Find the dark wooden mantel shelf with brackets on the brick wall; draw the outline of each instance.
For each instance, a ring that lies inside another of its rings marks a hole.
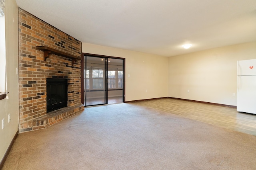
[[[46,46],[36,46],[36,49],[44,51],[44,61],[46,61],[46,59],[50,56],[50,54],[60,55],[62,57],[72,59],[72,65],[74,63],[76,63],[77,60],[81,60],[81,57],[78,57],[75,55],[70,55],[68,53],[58,51],[56,49],[52,49],[52,48],[46,47]]]

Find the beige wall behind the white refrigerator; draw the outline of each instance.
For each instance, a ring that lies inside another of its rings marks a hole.
[[[236,61],[247,59],[256,42],[169,57],[168,96],[236,106]]]

